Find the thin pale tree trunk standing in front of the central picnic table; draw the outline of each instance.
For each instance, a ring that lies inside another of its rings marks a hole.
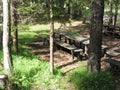
[[[53,32],[54,32],[53,0],[50,0],[50,73],[52,74],[54,73]]]

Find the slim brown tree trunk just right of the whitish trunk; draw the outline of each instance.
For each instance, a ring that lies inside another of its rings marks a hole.
[[[18,53],[18,22],[17,22],[17,1],[11,0],[11,24],[12,24],[12,40],[13,40],[13,49],[14,52]]]

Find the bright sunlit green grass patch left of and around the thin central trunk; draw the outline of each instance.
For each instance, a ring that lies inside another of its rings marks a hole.
[[[10,77],[12,90],[48,90],[63,88],[60,80],[62,74],[55,69],[56,75],[49,73],[49,63],[39,60],[37,57],[13,56],[14,72]],[[63,83],[63,81],[61,80]],[[62,90],[62,89],[61,89]]]

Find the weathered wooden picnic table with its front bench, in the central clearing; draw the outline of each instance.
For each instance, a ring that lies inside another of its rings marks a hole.
[[[63,32],[63,31],[55,32],[54,36],[55,36],[54,38],[55,38],[56,46],[60,46],[60,47],[70,50],[72,59],[74,59],[74,53],[79,53],[78,56],[81,59],[82,55],[80,55],[80,53],[83,54],[83,48],[79,47],[79,45],[77,46],[76,42],[78,42],[78,41],[82,42],[83,40],[85,40],[87,38],[71,35],[71,34],[69,34],[67,32]],[[57,37],[57,39],[56,39],[56,37]]]

